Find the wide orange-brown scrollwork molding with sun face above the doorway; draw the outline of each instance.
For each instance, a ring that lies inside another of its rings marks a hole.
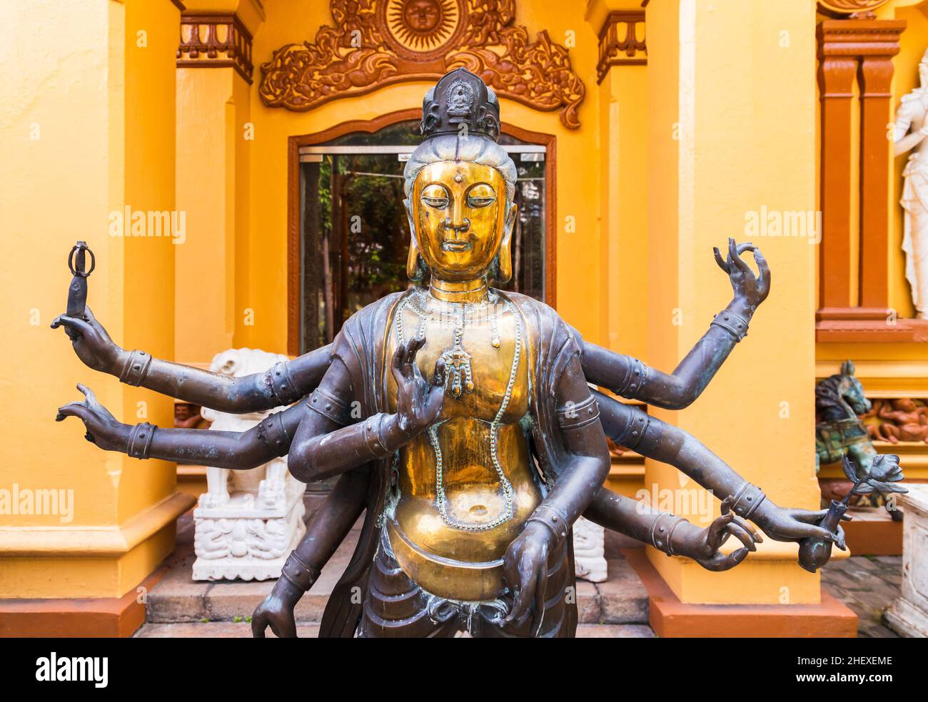
[[[568,129],[586,86],[568,50],[515,24],[515,0],[330,0],[335,26],[315,43],[288,44],[261,65],[258,93],[269,108],[303,112],[392,83],[429,81],[463,66],[497,95],[561,110]]]

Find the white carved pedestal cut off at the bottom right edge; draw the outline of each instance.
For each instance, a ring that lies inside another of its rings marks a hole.
[[[928,638],[928,483],[905,483],[896,495],[905,512],[902,596],[886,610],[886,623],[903,636]]]

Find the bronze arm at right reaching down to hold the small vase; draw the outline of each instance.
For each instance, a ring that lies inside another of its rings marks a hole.
[[[810,512],[774,504],[764,491],[741,478],[688,432],[599,391],[594,393],[602,428],[615,443],[676,467],[720,499],[730,497],[731,511],[753,521],[774,541],[793,542],[814,536],[844,549],[844,530],[839,527],[834,534],[818,526],[827,510]]]

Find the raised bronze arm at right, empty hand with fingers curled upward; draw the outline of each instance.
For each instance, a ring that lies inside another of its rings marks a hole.
[[[755,276],[748,264],[741,260],[740,254],[744,251],[754,253],[759,275]],[[715,249],[715,262],[728,274],[734,298],[728,307],[715,315],[708,331],[672,375],[642,364],[631,356],[584,342],[581,348],[586,379],[601,388],[611,389],[620,397],[665,409],[683,409],[696,400],[735,344],[747,334],[757,305],[767,299],[770,291],[767,261],[760,249],[752,244],[736,245],[734,239],[728,239],[728,261],[723,261],[718,249]]]

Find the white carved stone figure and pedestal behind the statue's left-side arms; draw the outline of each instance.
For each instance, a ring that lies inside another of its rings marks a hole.
[[[264,373],[287,357],[251,349],[230,349],[216,354],[210,370],[241,377]],[[227,415],[204,407],[201,414],[216,431],[247,431],[265,416]],[[303,491],[293,478],[286,458],[275,458],[252,470],[207,468],[208,491],[193,511],[195,581],[264,581],[280,576],[290,551],[303,538]]]

